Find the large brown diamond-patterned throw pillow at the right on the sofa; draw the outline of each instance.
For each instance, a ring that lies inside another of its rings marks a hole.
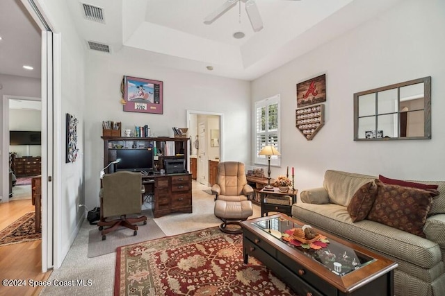
[[[375,184],[378,186],[377,195],[367,219],[426,237],[423,225],[430,211],[434,193],[384,184],[380,180],[375,180]]]

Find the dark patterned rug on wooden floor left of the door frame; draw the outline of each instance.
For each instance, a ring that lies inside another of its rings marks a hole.
[[[0,231],[0,246],[35,241],[40,238],[42,234],[35,233],[35,212],[31,211]]]

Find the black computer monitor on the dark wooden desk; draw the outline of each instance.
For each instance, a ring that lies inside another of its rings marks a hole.
[[[118,149],[116,159],[120,162],[115,164],[115,171],[153,171],[152,149]]]

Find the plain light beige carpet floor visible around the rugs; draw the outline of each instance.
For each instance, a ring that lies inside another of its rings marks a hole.
[[[156,223],[166,235],[181,234],[190,232],[186,229],[204,229],[212,224],[220,224],[213,216],[213,196],[202,190],[209,189],[193,181],[193,214],[170,214],[165,217],[156,218]],[[200,213],[199,211],[202,211]],[[200,214],[205,218],[200,218]],[[259,206],[254,205],[254,217],[261,216]],[[181,217],[181,218],[179,218]],[[171,225],[169,226],[169,218]],[[159,221],[159,222],[158,222]],[[174,223],[172,221],[175,221]],[[204,225],[200,225],[200,221]],[[184,227],[186,226],[187,227]],[[113,284],[115,275],[116,254],[109,253],[102,256],[88,258],[88,236],[92,229],[97,229],[96,225],[90,225],[87,220],[83,222],[79,234],[70,247],[63,264],[59,269],[54,270],[49,277],[49,281],[58,279],[59,281],[72,281],[72,279],[91,279],[91,286],[54,286],[44,287],[40,296],[65,296],[65,295],[113,295]]]

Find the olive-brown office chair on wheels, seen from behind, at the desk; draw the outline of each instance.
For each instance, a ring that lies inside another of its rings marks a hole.
[[[147,224],[146,216],[127,217],[130,214],[140,214],[144,192],[141,173],[118,171],[104,175],[100,191],[100,220],[97,223],[99,230],[102,230],[102,240],[106,239],[106,234],[120,226],[133,229],[133,235],[136,236],[136,223]]]

